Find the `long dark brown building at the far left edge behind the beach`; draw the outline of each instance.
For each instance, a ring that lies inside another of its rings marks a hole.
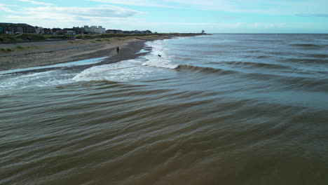
[[[35,28],[25,23],[6,23],[0,22],[0,34],[15,34],[15,33],[32,33],[34,34]]]

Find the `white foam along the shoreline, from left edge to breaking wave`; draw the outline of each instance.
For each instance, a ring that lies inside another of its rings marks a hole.
[[[165,48],[165,41],[151,41],[147,42],[146,45],[151,46],[153,50],[143,57],[114,64],[90,67],[79,73],[72,73],[73,71],[66,70],[54,70],[31,74],[0,75],[0,93],[4,93],[6,90],[62,85],[74,83],[76,81],[136,81],[142,78],[153,78],[153,76],[158,76],[158,74],[166,74],[168,69],[175,69],[178,67],[177,64],[172,62],[172,57],[168,55],[168,50],[170,49]],[[158,57],[158,54],[162,57]],[[101,60],[102,58],[83,60],[67,63],[65,65],[86,64],[88,62],[94,63],[100,62]]]

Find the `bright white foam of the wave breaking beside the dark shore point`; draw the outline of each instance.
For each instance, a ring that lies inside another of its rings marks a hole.
[[[157,72],[165,69],[175,69],[179,65],[172,62],[172,57],[168,55],[170,48],[165,47],[165,41],[146,42],[152,51],[143,57],[135,60],[125,60],[114,64],[104,64],[91,67],[74,76],[74,81],[135,81],[140,78],[147,78],[156,75]],[[158,54],[161,57],[158,57]]]

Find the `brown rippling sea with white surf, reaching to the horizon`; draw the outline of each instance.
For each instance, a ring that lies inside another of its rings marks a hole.
[[[328,184],[328,34],[140,53],[1,71],[0,184]]]

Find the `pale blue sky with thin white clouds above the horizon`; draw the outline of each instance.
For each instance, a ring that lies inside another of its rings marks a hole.
[[[0,22],[207,33],[327,33],[328,0],[0,0]]]

